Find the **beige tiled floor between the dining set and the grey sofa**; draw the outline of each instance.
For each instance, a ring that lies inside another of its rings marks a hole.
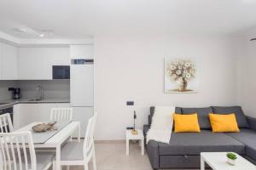
[[[97,170],[152,170],[147,154],[141,155],[138,144],[130,144],[130,156],[125,154],[125,143],[96,144],[96,164]],[[71,167],[70,169],[83,170],[84,168]],[[92,169],[90,163],[89,170]]]

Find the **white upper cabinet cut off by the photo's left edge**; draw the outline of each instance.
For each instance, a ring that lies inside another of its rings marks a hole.
[[[18,79],[18,48],[0,43],[0,79]]]

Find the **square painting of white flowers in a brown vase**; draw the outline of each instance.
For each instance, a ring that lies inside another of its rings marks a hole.
[[[165,93],[198,93],[198,72],[195,59],[165,59]]]

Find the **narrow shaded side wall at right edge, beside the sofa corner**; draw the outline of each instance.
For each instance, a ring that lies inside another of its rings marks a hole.
[[[256,41],[248,38],[236,40],[237,49],[237,103],[243,107],[247,116],[256,117]]]

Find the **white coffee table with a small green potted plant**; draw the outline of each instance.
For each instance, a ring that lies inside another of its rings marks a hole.
[[[256,170],[256,166],[245,158],[236,154],[236,165],[230,165],[227,162],[227,152],[202,152],[201,170],[205,170],[207,163],[213,170]]]

